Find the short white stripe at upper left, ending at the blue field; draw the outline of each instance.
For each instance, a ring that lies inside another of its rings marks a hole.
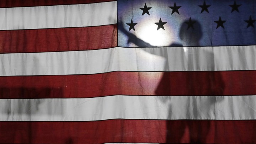
[[[0,9],[0,30],[85,27],[117,23],[116,1]]]

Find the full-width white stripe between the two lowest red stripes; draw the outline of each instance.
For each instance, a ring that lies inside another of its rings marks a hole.
[[[0,121],[256,119],[256,96],[108,96],[1,99]]]

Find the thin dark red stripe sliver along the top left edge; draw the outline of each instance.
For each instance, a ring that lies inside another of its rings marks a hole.
[[[4,7],[25,7],[25,6],[88,4],[88,3],[107,2],[107,1],[113,1],[113,0],[1,0],[0,8],[4,8]]]

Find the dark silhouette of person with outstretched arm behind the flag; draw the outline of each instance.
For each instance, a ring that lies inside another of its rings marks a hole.
[[[201,25],[198,21],[194,21],[193,25],[189,27],[186,23],[188,21],[184,21],[180,27],[179,37],[182,40],[182,44],[172,43],[169,47],[182,47],[182,46],[200,46],[200,39],[202,38],[202,29]],[[154,47],[149,43],[144,42],[142,39],[139,39],[134,34],[129,33],[124,29],[122,25],[122,21],[119,21],[118,25],[119,30],[121,30],[128,37],[128,43],[134,43],[139,47]],[[167,49],[163,49],[167,50]],[[192,50],[192,51],[191,51]],[[202,49],[204,50],[204,49]],[[166,54],[165,52],[163,52]],[[164,72],[158,87],[156,88],[155,94],[157,96],[177,96],[178,95],[188,95],[188,96],[203,96],[203,95],[222,95],[224,90],[224,83],[222,81],[222,76],[218,72],[210,71],[207,74],[198,75],[198,72],[193,72],[197,70],[197,66],[199,63],[199,58],[193,57],[193,48],[186,48],[184,50],[184,55],[181,57],[185,57],[187,60],[187,70],[191,72],[185,72],[182,75],[182,80],[184,80],[186,85],[183,86],[183,89],[176,90],[175,87],[171,85],[178,84],[179,81],[173,78],[173,73],[176,72]],[[207,68],[209,70],[214,70],[214,55],[210,52],[207,53]],[[165,55],[168,56],[168,55]],[[199,56],[199,55],[198,55]],[[168,62],[166,63],[166,67],[168,67]],[[202,81],[208,81],[207,83],[202,84]],[[198,85],[203,87],[198,87]],[[164,100],[164,98],[162,99]],[[166,101],[163,101],[166,102]],[[202,101],[203,102],[203,101]],[[213,105],[217,101],[210,103]],[[196,103],[192,103],[195,105]],[[194,119],[200,119],[200,113],[195,110],[194,113],[190,114]],[[169,104],[169,116],[168,118],[172,118],[171,113],[171,104]],[[197,120],[167,120],[166,121],[166,143],[206,143],[208,140],[208,133],[210,129],[210,123],[212,121],[203,121],[198,125]],[[202,128],[203,127],[203,128]],[[187,133],[188,135],[186,135]],[[186,141],[187,140],[187,141]]]

